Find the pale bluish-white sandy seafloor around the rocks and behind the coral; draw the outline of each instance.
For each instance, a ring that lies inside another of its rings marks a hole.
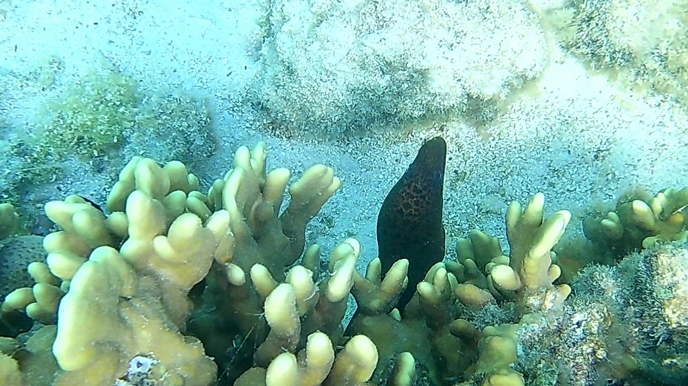
[[[237,146],[258,140],[268,145],[269,168],[285,166],[299,176],[313,163],[333,166],[343,188],[312,222],[309,242],[321,243],[328,253],[336,242],[354,236],[363,245],[361,264],[376,256],[376,216],[386,192],[422,141],[436,134],[418,130],[324,141],[284,139],[261,130],[239,98],[258,67],[255,47],[248,43],[257,33],[252,1],[37,0],[13,7],[0,22],[3,72],[21,71],[55,55],[65,66],[56,79],[59,89],[102,54],[144,90],[180,87],[210,98],[221,146],[193,169],[206,187],[230,168]],[[685,109],[660,97],[623,93],[585,67],[561,53],[537,90],[511,104],[486,128],[487,135],[447,122],[442,135],[449,144],[444,183],[448,253],[456,238],[476,227],[504,239],[508,203],[536,192],[544,192],[548,213],[572,211],[569,232],[575,235],[591,203],[612,203],[636,185],[657,191],[686,184]],[[23,122],[50,97],[1,92],[0,113],[13,130],[28,130]],[[119,168],[94,174],[75,163],[65,179],[36,188],[27,199],[47,201],[77,192],[103,202]]]

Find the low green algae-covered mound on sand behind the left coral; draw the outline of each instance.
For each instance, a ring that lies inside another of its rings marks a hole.
[[[111,155],[124,144],[188,161],[215,149],[211,109],[186,91],[141,87],[112,67],[92,69],[47,102],[34,134],[35,163]],[[153,144],[155,146],[153,146]]]

